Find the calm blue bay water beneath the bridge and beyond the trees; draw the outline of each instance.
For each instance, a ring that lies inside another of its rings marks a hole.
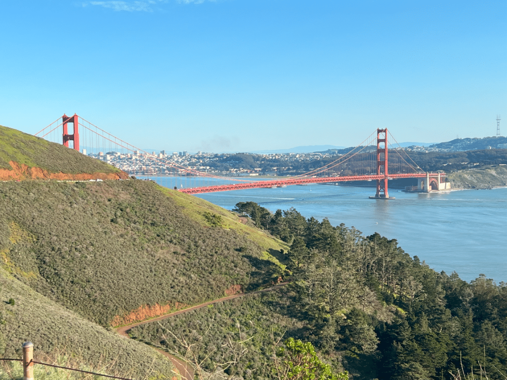
[[[167,187],[175,185],[167,177],[152,179]],[[183,185],[194,184],[188,180]],[[373,195],[372,187],[322,184],[198,197],[228,210],[246,201],[272,212],[294,207],[306,218],[328,218],[333,225],[345,223],[364,235],[378,232],[396,239],[405,252],[417,255],[437,272],[455,271],[465,281],[485,274],[497,283],[507,282],[507,188],[439,194],[408,194],[390,188],[394,200],[368,198]]]

